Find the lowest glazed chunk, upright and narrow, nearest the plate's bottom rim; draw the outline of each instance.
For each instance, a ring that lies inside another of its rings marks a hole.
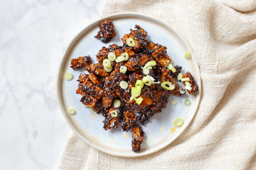
[[[133,130],[132,151],[140,152],[141,143],[143,141],[145,133],[141,130],[141,126],[137,124],[135,124],[132,130]]]

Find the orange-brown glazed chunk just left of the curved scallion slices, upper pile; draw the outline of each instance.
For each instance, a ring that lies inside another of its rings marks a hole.
[[[127,67],[129,71],[135,71],[145,65],[148,60],[148,56],[145,54],[143,56],[136,55],[135,57],[129,57],[128,61],[124,63],[124,66]]]

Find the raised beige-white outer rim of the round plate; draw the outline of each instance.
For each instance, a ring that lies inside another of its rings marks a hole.
[[[92,27],[94,27],[95,24],[100,24],[101,22],[105,21],[106,19],[114,19],[114,18],[121,18],[121,17],[140,17],[140,18],[143,18],[143,19],[148,19],[148,20],[151,20],[151,21],[154,21],[160,25],[162,25],[163,27],[167,28],[168,30],[172,31],[177,37],[178,39],[184,44],[184,46],[190,50],[190,56],[191,56],[191,60],[193,61],[193,64],[194,64],[194,67],[195,67],[195,71],[196,71],[196,80],[197,80],[197,85],[198,85],[198,88],[199,88],[199,94],[197,94],[197,96],[195,97],[195,100],[193,101],[193,103],[191,103],[191,105],[194,104],[194,102],[197,103],[196,107],[191,107],[191,109],[189,110],[189,113],[188,113],[188,116],[186,117],[186,122],[184,122],[184,124],[179,127],[179,133],[174,133],[172,135],[172,138],[171,140],[169,140],[170,137],[168,137],[166,139],[166,142],[163,143],[162,145],[159,145],[157,147],[154,147],[152,149],[149,149],[149,150],[146,150],[142,153],[136,153],[136,154],[133,154],[133,155],[129,155],[129,153],[123,153],[121,154],[120,152],[116,152],[116,151],[111,151],[111,150],[108,150],[106,148],[103,148],[103,147],[100,147],[99,145],[91,142],[90,140],[88,140],[87,138],[85,138],[82,134],[80,134],[80,132],[76,129],[76,127],[71,123],[71,121],[69,120],[68,116],[67,116],[67,113],[66,113],[66,110],[63,106],[63,101],[61,99],[61,91],[60,91],[60,80],[61,80],[61,75],[62,75],[62,67],[63,67],[63,64],[65,62],[65,59],[66,59],[66,56],[67,54],[69,53],[70,49],[72,48],[73,44],[86,32],[88,31],[89,29],[91,29]],[[151,153],[154,153],[156,151],[159,151],[163,148],[165,148],[166,146],[168,146],[170,143],[172,143],[180,134],[183,133],[183,131],[188,127],[188,125],[190,124],[190,122],[192,121],[192,119],[194,118],[195,114],[196,114],[196,111],[197,111],[197,108],[198,108],[198,105],[199,105],[199,102],[200,102],[200,96],[201,96],[201,77],[200,77],[200,69],[199,69],[199,66],[196,62],[196,59],[194,57],[194,53],[192,51],[192,49],[188,46],[187,42],[173,29],[171,28],[168,24],[164,23],[163,21],[159,20],[159,19],[156,19],[154,17],[150,17],[150,16],[147,16],[147,15],[143,15],[143,14],[139,14],[139,13],[135,13],[135,12],[122,12],[122,13],[115,13],[115,14],[112,14],[112,15],[108,15],[108,16],[105,16],[105,17],[102,17],[92,23],[90,23],[89,25],[87,25],[85,28],[83,28],[77,35],[75,35],[73,37],[73,39],[70,41],[69,45],[67,46],[67,48],[65,49],[65,52],[62,56],[62,59],[61,59],[61,62],[60,62],[60,65],[59,65],[59,69],[58,69],[58,74],[57,74],[57,82],[56,82],[56,90],[57,90],[57,98],[58,98],[58,102],[59,102],[59,106],[60,106],[60,109],[62,111],[62,114],[64,115],[66,121],[68,122],[69,126],[71,127],[71,129],[76,133],[76,135],[78,135],[83,141],[85,141],[88,145],[102,151],[102,152],[105,152],[105,153],[108,153],[110,155],[115,155],[115,156],[122,156],[122,157],[137,157],[137,156],[144,156],[144,155],[148,155],[148,154],[151,154]],[[126,154],[126,155],[125,155]]]

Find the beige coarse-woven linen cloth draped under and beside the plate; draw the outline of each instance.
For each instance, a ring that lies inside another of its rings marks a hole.
[[[256,1],[108,0],[174,28],[195,53],[201,100],[186,130],[146,156],[112,156],[72,134],[59,169],[256,169]]]

